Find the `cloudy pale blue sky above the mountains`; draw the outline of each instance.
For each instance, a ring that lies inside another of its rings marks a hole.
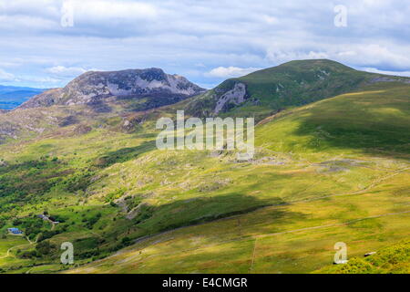
[[[408,0],[0,0],[0,84],[162,68],[210,89],[295,59],[410,76]]]

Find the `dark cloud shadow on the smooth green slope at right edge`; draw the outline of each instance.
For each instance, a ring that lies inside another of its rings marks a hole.
[[[303,146],[313,151],[351,149],[405,158],[410,152],[410,112],[406,110],[409,97],[405,92],[394,93],[323,102],[309,110],[311,114],[302,118],[294,133],[312,136]],[[385,95],[391,99],[386,99]]]

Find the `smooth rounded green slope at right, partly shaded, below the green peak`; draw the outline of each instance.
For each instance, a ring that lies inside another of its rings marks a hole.
[[[410,91],[400,83],[369,86],[364,91],[284,111],[262,121],[259,143],[275,151],[298,153],[370,152],[394,156],[410,152]]]

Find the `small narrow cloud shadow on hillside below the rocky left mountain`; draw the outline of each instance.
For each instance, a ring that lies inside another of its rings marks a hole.
[[[116,163],[128,162],[138,158],[139,155],[156,149],[156,141],[145,141],[136,147],[123,148],[118,151],[110,151],[104,156],[97,158],[93,163],[98,168],[105,168]]]

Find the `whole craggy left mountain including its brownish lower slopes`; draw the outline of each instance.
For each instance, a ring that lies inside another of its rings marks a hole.
[[[71,134],[108,127],[133,131],[141,123],[128,119],[139,111],[176,104],[206,91],[159,68],[87,72],[63,89],[49,89],[0,118],[0,143],[38,135]],[[74,127],[74,128],[73,128]]]

